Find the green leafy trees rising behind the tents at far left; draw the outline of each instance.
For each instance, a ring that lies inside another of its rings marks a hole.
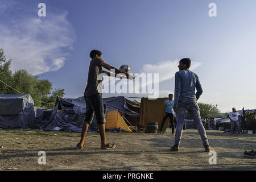
[[[12,73],[10,64],[11,60],[6,60],[3,49],[0,48],[0,80],[12,87],[0,81],[0,94],[30,94],[35,106],[46,109],[55,106],[57,96],[64,96],[64,89],[53,89],[49,80],[40,80],[38,76],[31,75],[25,69]]]

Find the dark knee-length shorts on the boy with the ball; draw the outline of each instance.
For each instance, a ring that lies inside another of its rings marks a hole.
[[[96,115],[97,123],[102,125],[105,123],[104,104],[102,94],[94,94],[92,96],[84,96],[86,103],[86,113],[84,121],[89,125],[93,121],[94,114]]]

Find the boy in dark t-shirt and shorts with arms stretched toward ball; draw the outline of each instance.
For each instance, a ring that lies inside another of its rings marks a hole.
[[[101,148],[112,149],[115,148],[115,144],[106,142],[105,135],[105,114],[104,103],[102,100],[102,76],[101,73],[105,73],[108,76],[117,76],[119,73],[125,74],[126,78],[133,80],[135,76],[129,75],[129,73],[122,72],[119,69],[106,64],[101,58],[101,52],[93,50],[90,52],[90,67],[88,72],[87,85],[84,92],[84,98],[86,102],[86,114],[84,124],[82,125],[82,134],[80,142],[77,144],[78,148],[85,146],[85,136],[90,123],[93,121],[93,115],[96,115],[98,130],[101,136]],[[110,72],[102,71],[102,67],[110,71],[114,70],[114,74],[110,75]]]

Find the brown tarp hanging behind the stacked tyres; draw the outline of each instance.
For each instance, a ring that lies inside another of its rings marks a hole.
[[[157,98],[156,100],[149,100],[148,98],[141,99],[141,109],[139,111],[140,119],[139,125],[146,127],[149,122],[158,122],[160,129],[163,117],[164,117],[164,101],[168,100],[168,97]],[[163,131],[166,131],[170,119],[164,123]]]

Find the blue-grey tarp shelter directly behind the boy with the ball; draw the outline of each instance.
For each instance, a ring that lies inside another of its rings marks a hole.
[[[125,97],[103,98],[106,103],[106,110],[118,110],[129,115],[139,115],[130,110],[126,105]],[[85,118],[86,106],[84,97],[79,98],[59,98],[56,99],[55,109],[52,110],[51,116],[42,121],[41,129],[48,131],[73,131],[81,132],[82,123]],[[93,118],[92,118],[93,119]],[[97,125],[92,122],[88,133],[97,132]]]

